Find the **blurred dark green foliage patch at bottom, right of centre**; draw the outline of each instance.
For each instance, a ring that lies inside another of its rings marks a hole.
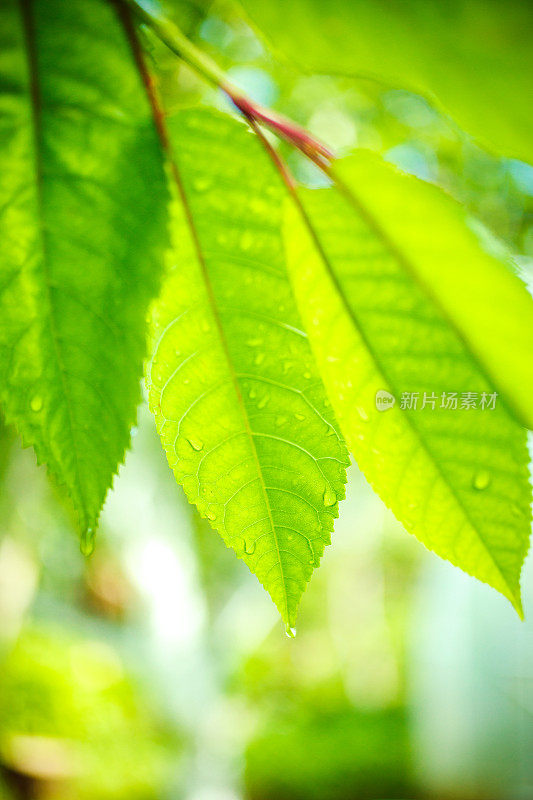
[[[408,777],[409,739],[397,711],[364,714],[301,709],[278,720],[247,751],[247,789],[270,797],[342,800],[413,796]],[[276,770],[272,770],[276,764]]]

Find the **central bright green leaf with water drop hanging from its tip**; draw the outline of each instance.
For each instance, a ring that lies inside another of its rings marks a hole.
[[[348,460],[286,274],[283,187],[228,117],[181,112],[169,132],[180,200],[150,406],[188,499],[292,627]]]

